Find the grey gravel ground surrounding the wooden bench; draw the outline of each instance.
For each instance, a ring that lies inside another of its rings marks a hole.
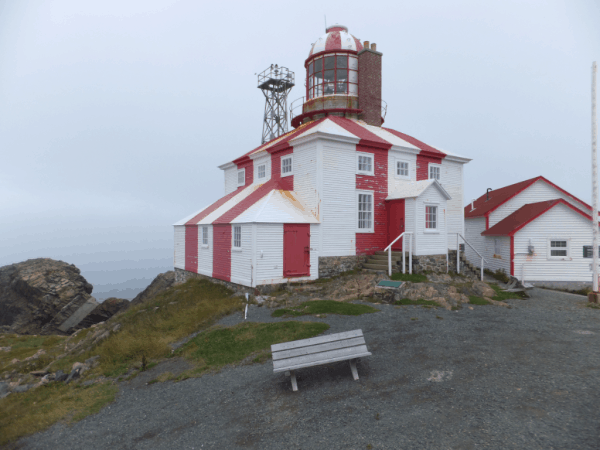
[[[376,305],[381,312],[358,317],[307,316],[328,333],[363,330],[373,355],[358,363],[359,381],[334,363],[298,371],[293,392],[269,361],[146,385],[158,366],[123,383],[99,414],[17,447],[598,449],[600,310],[577,295],[530,294],[510,309]],[[248,320],[282,320],[270,312],[253,306]]]

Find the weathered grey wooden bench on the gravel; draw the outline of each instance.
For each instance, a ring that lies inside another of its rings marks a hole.
[[[286,372],[292,379],[292,389],[298,390],[294,371],[304,367],[350,360],[352,376],[358,380],[356,358],[370,356],[362,330],[345,331],[299,341],[271,345],[273,372]]]

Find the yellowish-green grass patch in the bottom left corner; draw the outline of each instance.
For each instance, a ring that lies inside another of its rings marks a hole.
[[[114,401],[119,388],[111,384],[73,387],[51,383],[0,400],[0,445],[41,431],[59,420],[69,423],[95,414]]]

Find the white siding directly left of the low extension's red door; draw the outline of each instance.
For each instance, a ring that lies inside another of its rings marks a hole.
[[[271,284],[283,279],[283,224],[256,225],[256,284]]]

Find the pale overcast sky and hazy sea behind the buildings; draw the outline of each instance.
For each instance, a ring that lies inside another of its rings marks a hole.
[[[325,15],[383,53],[386,126],[473,159],[465,204],[538,175],[591,202],[597,0],[0,0],[0,266],[170,265],[260,144],[255,73],[304,95]]]

